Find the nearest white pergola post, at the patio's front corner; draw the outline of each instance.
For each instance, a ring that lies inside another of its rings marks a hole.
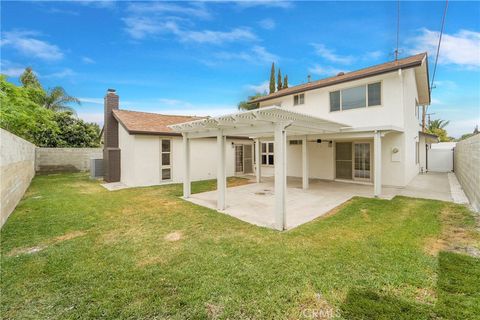
[[[287,191],[286,133],[285,125],[275,125],[274,166],[275,166],[275,228],[284,230],[286,225],[285,196]]]

